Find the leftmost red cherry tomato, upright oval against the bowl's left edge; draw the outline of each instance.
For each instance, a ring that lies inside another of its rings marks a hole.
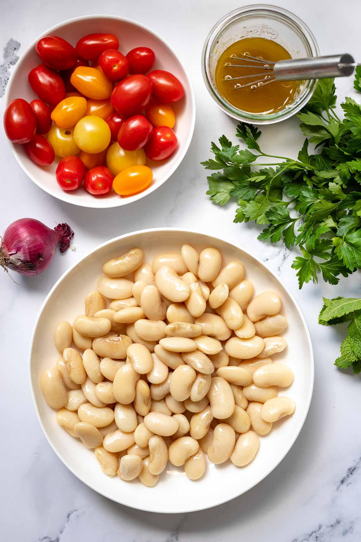
[[[36,117],[27,101],[17,98],[10,102],[4,113],[4,129],[12,143],[28,143],[34,139]]]

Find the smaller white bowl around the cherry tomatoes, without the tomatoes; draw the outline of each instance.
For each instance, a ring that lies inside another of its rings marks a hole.
[[[23,145],[17,145],[10,141],[9,143],[18,164],[28,177],[45,192],[62,199],[64,202],[81,205],[81,207],[119,207],[145,197],[165,183],[181,163],[191,143],[195,123],[195,97],[192,82],[186,68],[163,38],[140,23],[116,16],[88,15],[58,24],[37,37],[21,55],[6,88],[5,107],[15,98],[23,98],[29,102],[37,98],[29,85],[28,74],[32,68],[41,63],[35,52],[36,43],[40,38],[56,35],[63,37],[75,46],[82,36],[95,32],[108,32],[119,37],[119,49],[124,54],[137,46],[150,47],[154,50],[156,59],[153,69],[172,72],[185,88],[184,98],[172,104],[176,115],[174,131],[178,138],[178,147],[168,160],[162,160],[159,163],[150,161],[148,165],[153,170],[153,181],[149,188],[129,197],[120,197],[114,190],[105,196],[96,197],[87,192],[83,185],[78,190],[67,192],[60,188],[55,178],[55,170],[60,158],[56,157],[50,166],[38,166],[27,156]]]

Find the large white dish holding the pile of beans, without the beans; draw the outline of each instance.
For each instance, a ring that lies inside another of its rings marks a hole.
[[[123,482],[105,476],[94,456],[83,444],[65,433],[56,422],[56,411],[45,402],[40,388],[41,373],[55,365],[59,356],[54,345],[54,330],[58,322],[73,322],[83,311],[84,298],[95,289],[102,274],[104,262],[123,254],[132,247],[141,247],[146,262],[167,251],[180,251],[183,243],[192,244],[197,250],[214,246],[224,257],[224,263],[237,259],[244,263],[246,278],[255,286],[255,293],[278,292],[282,300],[281,312],[288,321],[283,334],[287,349],[276,354],[274,361],[292,367],[294,383],[289,389],[279,389],[279,395],[292,397],[296,411],[290,417],[274,423],[271,433],[260,437],[260,446],[254,460],[244,468],[230,461],[221,465],[207,464],[206,473],[198,481],[188,480],[183,467],[168,466],[153,488],[139,480]],[[257,257],[234,244],[216,237],[176,228],[142,230],[116,237],[97,247],[80,262],[71,267],[57,281],[45,299],[38,315],[30,350],[30,388],[38,421],[50,446],[62,462],[80,480],[98,493],[130,506],[150,512],[193,512],[209,508],[245,493],[277,467],[296,440],[309,410],[313,389],[313,352],[307,324],[284,283]]]

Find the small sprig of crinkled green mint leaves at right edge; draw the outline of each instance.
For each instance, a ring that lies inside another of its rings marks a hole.
[[[323,326],[333,326],[350,322],[349,332],[340,347],[341,356],[334,364],[340,369],[351,367],[355,375],[361,371],[361,299],[325,299],[318,317]]]

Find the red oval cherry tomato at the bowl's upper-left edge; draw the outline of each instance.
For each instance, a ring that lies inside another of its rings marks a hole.
[[[42,37],[35,50],[44,64],[56,70],[72,68],[77,59],[74,47],[58,36]]]

